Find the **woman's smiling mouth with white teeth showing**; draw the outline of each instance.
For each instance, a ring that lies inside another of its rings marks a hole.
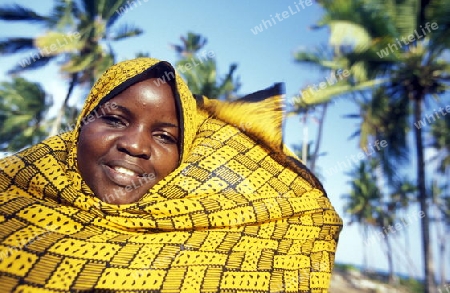
[[[135,185],[146,173],[138,165],[125,161],[111,161],[102,164],[106,176],[119,186]]]

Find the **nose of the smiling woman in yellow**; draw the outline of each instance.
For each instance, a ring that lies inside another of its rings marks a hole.
[[[117,149],[130,156],[149,159],[151,156],[151,136],[136,129],[127,129],[117,141]]]

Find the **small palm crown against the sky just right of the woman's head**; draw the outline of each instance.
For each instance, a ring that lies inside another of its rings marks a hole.
[[[231,64],[227,74],[220,78],[214,52],[204,50],[207,43],[205,37],[189,32],[180,39],[181,45],[172,45],[180,58],[176,68],[186,79],[191,91],[211,99],[235,99],[240,87],[235,77],[237,65]]]

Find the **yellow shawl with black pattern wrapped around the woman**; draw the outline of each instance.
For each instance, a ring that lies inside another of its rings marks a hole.
[[[195,100],[176,75],[180,166],[134,204],[92,195],[82,117],[158,62],[113,66],[74,131],[0,160],[0,292],[327,292],[342,221],[283,149],[279,86]]]

